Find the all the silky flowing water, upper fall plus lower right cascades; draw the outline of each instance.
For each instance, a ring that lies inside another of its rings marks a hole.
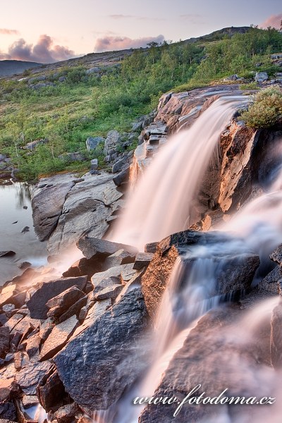
[[[189,226],[199,181],[210,161],[213,158],[216,160],[220,133],[230,121],[235,109],[240,108],[246,101],[247,99],[242,97],[223,97],[216,100],[189,130],[184,130],[168,140],[142,180],[137,183],[133,197],[128,199],[128,207],[112,235],[112,240],[142,248],[145,243],[161,240],[166,235]],[[133,406],[133,398],[153,396],[163,372],[173,355],[183,345],[190,330],[197,325],[200,317],[210,309],[218,307],[223,300],[226,301],[226,298],[216,294],[216,280],[228,257],[240,256],[251,250],[261,259],[259,269],[265,263],[271,263],[269,253],[282,242],[281,188],[282,172],[278,167],[273,170],[268,191],[249,202],[231,221],[223,223],[219,228],[222,233],[230,236],[226,242],[219,237],[214,245],[192,247],[187,257],[178,259],[159,308],[152,345],[149,346],[153,354],[148,362],[147,373],[109,410],[96,412],[94,422],[138,422],[142,406]],[[185,258],[190,259],[188,270],[185,268]],[[255,279],[253,283],[256,282]],[[240,321],[234,321],[228,332],[219,331],[220,339],[224,339],[222,342],[226,345],[244,344],[246,348],[249,348],[249,345],[252,348],[252,342],[257,342],[256,337],[262,323],[266,322],[270,327],[271,310],[276,304],[278,298],[274,297],[264,300],[250,312],[242,313]],[[215,332],[214,336],[219,334]],[[146,345],[140,345],[140,348],[146,348]],[[281,374],[273,368],[262,366],[259,371],[257,368],[252,369],[247,358],[240,357],[236,348],[230,361],[226,365],[223,360],[222,371],[227,372],[231,384],[237,381],[237,371],[240,367],[246,371],[245,384],[250,384],[256,391],[253,395],[259,396],[263,386],[272,388],[272,392],[281,391]],[[206,365],[210,364],[209,362]],[[273,410],[272,421],[280,421],[280,408],[275,407]],[[269,414],[266,407],[263,410],[255,410],[252,421],[263,423],[267,417]],[[216,423],[243,421],[251,420],[243,415],[231,419],[227,407],[222,407]],[[214,422],[214,419],[199,421]]]

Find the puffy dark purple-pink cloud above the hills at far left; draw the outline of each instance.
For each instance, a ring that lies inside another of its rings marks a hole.
[[[74,55],[74,51],[68,47],[54,45],[54,40],[49,35],[40,35],[37,44],[27,44],[25,39],[18,39],[8,48],[8,53],[0,54],[0,59],[54,63],[71,59]]]

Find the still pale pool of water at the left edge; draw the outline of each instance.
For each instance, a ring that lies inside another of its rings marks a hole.
[[[30,231],[21,233],[25,226]],[[0,251],[13,250],[16,255],[0,257],[0,286],[21,274],[21,262],[32,266],[47,263],[46,243],[37,240],[32,222],[30,185],[13,183],[0,185]]]

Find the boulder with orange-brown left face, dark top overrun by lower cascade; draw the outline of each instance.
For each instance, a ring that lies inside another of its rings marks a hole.
[[[233,254],[230,255],[228,254],[229,242],[232,243],[232,240],[223,233],[192,231],[176,233],[162,240],[157,245],[157,252],[142,276],[142,292],[149,314],[155,317],[176,260],[183,266],[181,278],[188,277],[197,260],[193,247],[205,246],[207,254],[210,254],[208,251],[211,250],[212,260],[218,264],[215,286],[212,288],[211,282],[209,295],[235,295],[236,291],[250,289],[255,271],[259,266],[259,257],[243,248],[233,250]],[[225,243],[226,254],[212,250],[213,245],[219,243]],[[179,287],[181,287],[181,280],[178,281]]]

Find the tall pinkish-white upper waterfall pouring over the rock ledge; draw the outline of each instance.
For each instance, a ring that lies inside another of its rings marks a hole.
[[[219,156],[219,137],[246,96],[221,97],[188,130],[171,137],[137,183],[111,240],[135,245],[183,231],[193,222],[197,188]]]

